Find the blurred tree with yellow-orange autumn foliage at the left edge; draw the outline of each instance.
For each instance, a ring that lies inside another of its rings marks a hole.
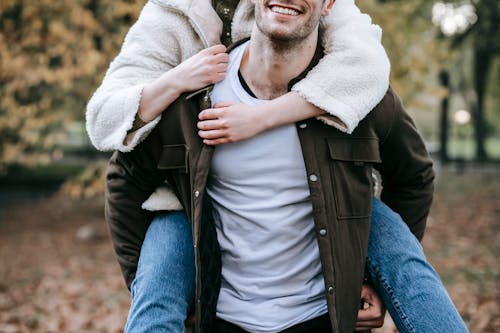
[[[63,154],[64,130],[83,119],[144,1],[2,0],[0,173]]]

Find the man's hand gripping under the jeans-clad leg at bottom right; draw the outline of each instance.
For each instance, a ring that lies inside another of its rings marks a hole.
[[[363,284],[361,289],[362,307],[358,312],[356,331],[368,331],[384,325],[385,307],[375,290]]]

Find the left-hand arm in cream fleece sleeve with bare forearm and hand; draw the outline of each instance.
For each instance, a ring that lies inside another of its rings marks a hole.
[[[225,47],[203,48],[185,15],[148,2],[87,105],[94,146],[131,151],[182,92],[221,80]],[[145,125],[133,126],[137,120]]]

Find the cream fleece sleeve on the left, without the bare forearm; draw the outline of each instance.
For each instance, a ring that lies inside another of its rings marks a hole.
[[[180,35],[182,32],[182,36]],[[99,150],[131,151],[160,117],[127,138],[144,86],[180,63],[182,41],[197,38],[187,18],[148,2],[87,105],[86,127]]]

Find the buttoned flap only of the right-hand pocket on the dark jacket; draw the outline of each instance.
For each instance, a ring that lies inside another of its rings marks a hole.
[[[330,158],[338,161],[380,163],[376,138],[328,138]]]

